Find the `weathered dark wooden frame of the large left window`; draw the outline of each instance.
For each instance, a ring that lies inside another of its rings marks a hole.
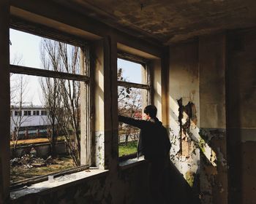
[[[29,23],[28,25],[26,24],[26,22],[24,23],[23,21],[20,21],[20,20],[16,21],[16,20],[18,19],[12,20],[10,29],[12,28],[12,29],[15,29],[16,31],[22,31],[26,34],[32,34],[32,35],[40,36],[42,38],[48,38],[58,42],[63,42],[66,44],[70,44],[72,46],[79,47],[80,50],[83,50],[83,59],[91,57],[90,48],[89,48],[90,44],[88,41],[86,41],[86,39],[79,39],[78,37],[70,36],[69,34],[64,34],[61,31],[54,31],[52,28],[48,28],[46,26],[43,26],[42,28],[40,27],[40,29],[37,29],[37,26],[34,26],[31,23]],[[11,63],[10,63],[10,74],[11,73],[26,74],[29,76],[40,76],[40,77],[46,77],[46,78],[67,79],[67,80],[74,80],[77,82],[84,82],[86,84],[86,96],[87,96],[85,100],[86,100],[86,103],[88,103],[86,107],[88,108],[88,107],[91,107],[91,94],[92,94],[92,91],[91,91],[92,76],[91,76],[91,64],[90,64],[91,62],[90,62],[90,59],[89,60],[86,59],[83,61],[84,62],[82,64],[83,64],[84,75],[70,74],[70,73],[65,73],[60,71],[51,71],[51,70],[45,70],[42,68],[29,67],[29,66],[18,66],[18,65],[13,65]],[[85,66],[85,63],[86,63],[86,66]],[[39,115],[41,115],[41,111],[39,111]],[[87,116],[89,116],[91,114],[91,109],[87,110],[86,112],[87,112]],[[76,173],[81,170],[89,169],[91,165],[91,124],[92,122],[90,121],[90,119],[86,119],[86,121],[88,124],[87,125],[88,127],[86,127],[86,130],[87,130],[86,133],[88,134],[86,136],[86,139],[88,140],[89,145],[85,146],[84,148],[90,149],[89,151],[86,151],[89,154],[89,155],[86,155],[86,157],[89,157],[88,164],[80,165],[75,168],[69,168],[67,170],[60,170],[56,173],[49,173],[47,175],[35,176],[33,178],[28,178],[23,181],[12,182],[10,183],[10,189],[13,190],[26,185],[36,184],[41,181],[47,181],[48,176],[54,176],[54,177],[64,176],[64,174],[67,174],[67,173]],[[80,147],[82,149],[82,146]]]

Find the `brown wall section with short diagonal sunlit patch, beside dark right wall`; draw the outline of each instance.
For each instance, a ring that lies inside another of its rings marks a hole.
[[[227,203],[225,34],[200,37],[200,195]]]

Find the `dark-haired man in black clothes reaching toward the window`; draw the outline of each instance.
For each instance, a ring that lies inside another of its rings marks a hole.
[[[170,139],[162,122],[157,119],[156,106],[144,109],[144,119],[118,116],[120,122],[140,128],[138,157],[144,155],[149,162],[149,189],[152,203],[166,203],[161,187],[169,161]]]

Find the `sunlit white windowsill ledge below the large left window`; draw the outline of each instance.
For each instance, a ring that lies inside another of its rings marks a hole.
[[[71,173],[67,176],[59,176],[54,178],[53,182],[42,181],[37,184],[32,184],[29,187],[22,187],[10,192],[10,199],[15,200],[20,197],[24,197],[31,194],[45,193],[52,189],[59,189],[61,187],[67,187],[80,182],[97,178],[98,176],[105,176],[109,170],[99,170],[97,168],[89,168],[89,170],[83,170],[77,173]]]

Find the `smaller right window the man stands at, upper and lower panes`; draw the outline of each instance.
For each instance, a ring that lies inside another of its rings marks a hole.
[[[118,114],[142,119],[142,112],[150,100],[148,62],[118,58]],[[118,143],[120,160],[135,157],[140,130],[119,122]]]

